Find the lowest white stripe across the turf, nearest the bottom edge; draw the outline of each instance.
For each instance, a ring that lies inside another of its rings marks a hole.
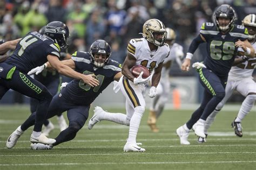
[[[0,166],[58,166],[58,165],[120,165],[120,164],[238,164],[255,163],[256,161],[188,161],[188,162],[88,162],[88,163],[58,163],[58,164],[0,164]]]

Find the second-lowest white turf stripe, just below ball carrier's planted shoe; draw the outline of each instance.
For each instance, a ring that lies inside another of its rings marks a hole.
[[[172,153],[143,153],[143,154],[234,154],[234,153],[256,153],[256,152],[172,152]],[[11,154],[11,155],[0,155],[0,157],[42,157],[42,156],[86,156],[86,155],[134,155],[134,153],[84,153],[84,154]],[[141,154],[141,153],[137,153]]]

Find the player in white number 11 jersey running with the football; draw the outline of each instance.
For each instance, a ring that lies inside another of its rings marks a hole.
[[[115,123],[130,126],[129,137],[124,146],[124,151],[144,152],[145,149],[139,147],[136,142],[137,132],[140,120],[145,111],[145,100],[143,91],[145,83],[149,82],[152,77],[152,86],[149,91],[149,97],[156,96],[156,88],[160,81],[161,69],[164,59],[169,55],[170,48],[165,44],[166,30],[164,24],[158,19],[149,19],[143,25],[143,38],[131,39],[127,46],[127,56],[123,63],[123,77],[119,80],[115,91],[121,89],[126,97],[126,115],[113,114],[104,111],[100,107],[95,108],[95,114],[92,116],[88,124],[88,129],[92,129],[99,121],[107,120]],[[131,68],[135,65],[145,66],[150,70],[154,70],[146,79],[142,78],[142,74],[136,78],[131,73]]]

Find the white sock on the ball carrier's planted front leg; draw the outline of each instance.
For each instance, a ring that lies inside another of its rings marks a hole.
[[[143,113],[134,112],[130,121],[129,137],[126,143],[136,143],[136,137],[139,130],[140,120]]]

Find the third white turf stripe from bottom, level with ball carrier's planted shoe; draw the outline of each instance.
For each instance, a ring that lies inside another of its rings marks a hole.
[[[145,146],[145,147],[234,147],[234,146],[256,146],[256,144],[241,144],[241,145],[167,145],[167,146]],[[24,149],[30,147],[14,147],[14,149]],[[54,148],[123,148],[123,146],[56,146]],[[6,147],[0,148],[0,150],[7,150]]]

